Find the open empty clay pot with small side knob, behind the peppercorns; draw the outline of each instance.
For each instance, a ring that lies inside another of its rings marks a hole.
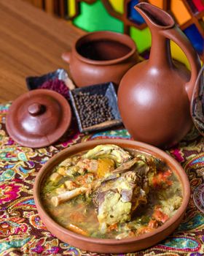
[[[71,52],[63,53],[76,86],[114,82],[138,62],[136,45],[129,36],[111,31],[85,34]]]

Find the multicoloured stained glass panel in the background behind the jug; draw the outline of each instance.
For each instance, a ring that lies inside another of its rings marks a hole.
[[[85,31],[110,30],[129,34],[141,56],[148,57],[151,34],[144,19],[133,8],[139,0],[67,0],[67,17]],[[173,16],[204,60],[204,4],[202,0],[149,0]],[[170,42],[173,59],[187,64],[178,45]]]

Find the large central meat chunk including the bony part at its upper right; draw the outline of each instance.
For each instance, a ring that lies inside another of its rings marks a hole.
[[[137,156],[123,163],[108,176],[93,195],[102,231],[115,223],[130,221],[134,211],[147,203],[149,176],[155,171],[152,157]]]

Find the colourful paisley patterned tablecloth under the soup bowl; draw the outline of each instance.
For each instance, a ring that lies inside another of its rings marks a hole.
[[[33,185],[40,167],[50,157],[74,143],[99,138],[130,139],[125,129],[82,135],[76,124],[56,145],[21,147],[7,135],[5,120],[9,103],[0,105],[0,255],[98,255],[85,252],[52,236],[39,218]],[[195,129],[167,151],[187,172],[191,195],[204,180],[204,138]],[[204,214],[189,201],[187,214],[167,239],[142,252],[127,255],[204,255]]]

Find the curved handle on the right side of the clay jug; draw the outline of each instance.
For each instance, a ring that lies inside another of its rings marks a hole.
[[[184,51],[187,56],[191,67],[191,78],[186,83],[186,91],[189,100],[191,101],[195,81],[201,67],[199,56],[195,48],[192,47],[191,42],[189,42],[189,39],[187,39],[185,34],[181,31],[181,29],[178,28],[178,26],[174,26],[172,29],[161,30],[160,33],[168,39],[173,40],[173,42],[176,42],[176,44],[181,48],[181,50]]]

